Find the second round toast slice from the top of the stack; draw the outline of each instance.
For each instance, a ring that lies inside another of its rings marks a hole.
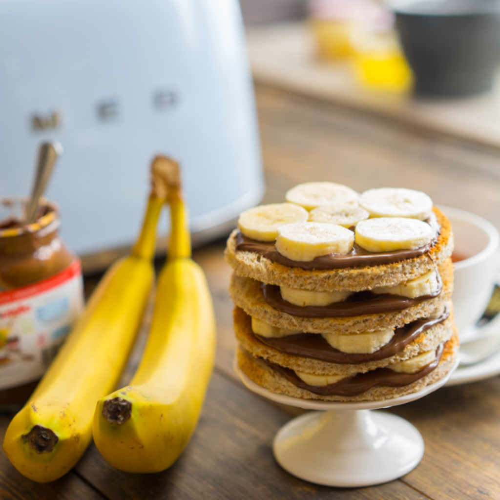
[[[292,316],[278,311],[265,301],[259,281],[238,276],[236,273],[232,274],[229,292],[235,305],[250,316],[257,317],[273,326],[311,333],[358,333],[389,327],[398,328],[415,319],[429,317],[435,310],[442,307],[449,301],[453,288],[453,264],[451,259],[447,259],[439,265],[438,271],[441,275],[443,287],[437,297],[422,300],[401,310],[360,316],[321,318]]]

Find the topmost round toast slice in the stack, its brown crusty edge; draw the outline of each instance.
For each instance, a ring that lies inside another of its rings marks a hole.
[[[433,208],[441,227],[437,242],[429,252],[391,264],[329,270],[304,270],[287,267],[249,251],[236,251],[235,229],[227,240],[224,258],[238,276],[264,283],[317,291],[370,290],[375,286],[394,286],[414,279],[443,263],[453,251],[453,233],[447,217]]]

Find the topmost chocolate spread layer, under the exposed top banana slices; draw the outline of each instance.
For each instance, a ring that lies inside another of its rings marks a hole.
[[[415,250],[395,250],[379,253],[369,252],[354,243],[352,250],[345,255],[341,253],[330,253],[329,255],[316,257],[313,260],[299,262],[281,255],[281,253],[276,250],[274,241],[257,241],[246,237],[241,231],[238,231],[236,234],[236,251],[241,250],[257,253],[272,262],[287,267],[300,267],[305,270],[327,270],[400,262],[401,260],[419,257],[427,253],[435,242],[436,239],[433,239],[430,243],[420,248],[416,248]]]

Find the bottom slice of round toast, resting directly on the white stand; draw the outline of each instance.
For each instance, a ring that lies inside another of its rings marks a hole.
[[[252,356],[242,347],[238,347],[236,358],[241,371],[255,383],[270,392],[286,394],[301,399],[319,399],[323,401],[384,401],[395,397],[417,392],[426,385],[436,382],[445,376],[453,367],[458,357],[458,338],[456,333],[445,343],[438,366],[428,375],[404,387],[372,387],[357,396],[321,396],[306,389],[297,387],[287,378],[273,370],[261,359]]]

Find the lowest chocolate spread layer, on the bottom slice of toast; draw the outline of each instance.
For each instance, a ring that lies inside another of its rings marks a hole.
[[[279,366],[278,364],[271,363],[267,359],[261,358],[272,369],[283,375],[293,385],[301,389],[308,390],[314,394],[321,396],[357,396],[371,389],[372,387],[404,387],[410,383],[416,382],[425,375],[432,372],[441,359],[443,351],[443,344],[440,344],[436,349],[435,359],[424,366],[416,373],[398,373],[389,368],[376,368],[366,373],[357,373],[348,378],[342,378],[336,383],[329,385],[309,385],[305,383],[298,375],[291,369]]]

